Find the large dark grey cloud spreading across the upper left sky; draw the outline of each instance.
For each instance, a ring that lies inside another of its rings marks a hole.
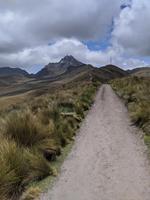
[[[76,37],[102,38],[119,13],[119,0],[0,1],[0,52]]]

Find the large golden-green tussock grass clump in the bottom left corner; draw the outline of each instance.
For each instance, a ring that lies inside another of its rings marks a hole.
[[[52,173],[41,155],[20,148],[13,141],[1,139],[0,199],[17,199],[28,183]]]

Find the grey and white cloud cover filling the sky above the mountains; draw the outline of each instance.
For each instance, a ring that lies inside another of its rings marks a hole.
[[[0,0],[0,67],[36,71],[66,54],[95,66],[110,58],[123,67],[142,66],[132,56],[150,54],[149,19],[148,0]],[[86,45],[108,34],[111,45],[104,50]]]

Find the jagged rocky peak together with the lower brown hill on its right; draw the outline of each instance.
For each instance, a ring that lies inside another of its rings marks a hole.
[[[58,63],[49,63],[35,77],[38,79],[88,79],[95,77],[102,82],[126,76],[128,73],[117,66],[107,65],[101,68],[84,64],[76,60],[73,56],[65,56]]]

